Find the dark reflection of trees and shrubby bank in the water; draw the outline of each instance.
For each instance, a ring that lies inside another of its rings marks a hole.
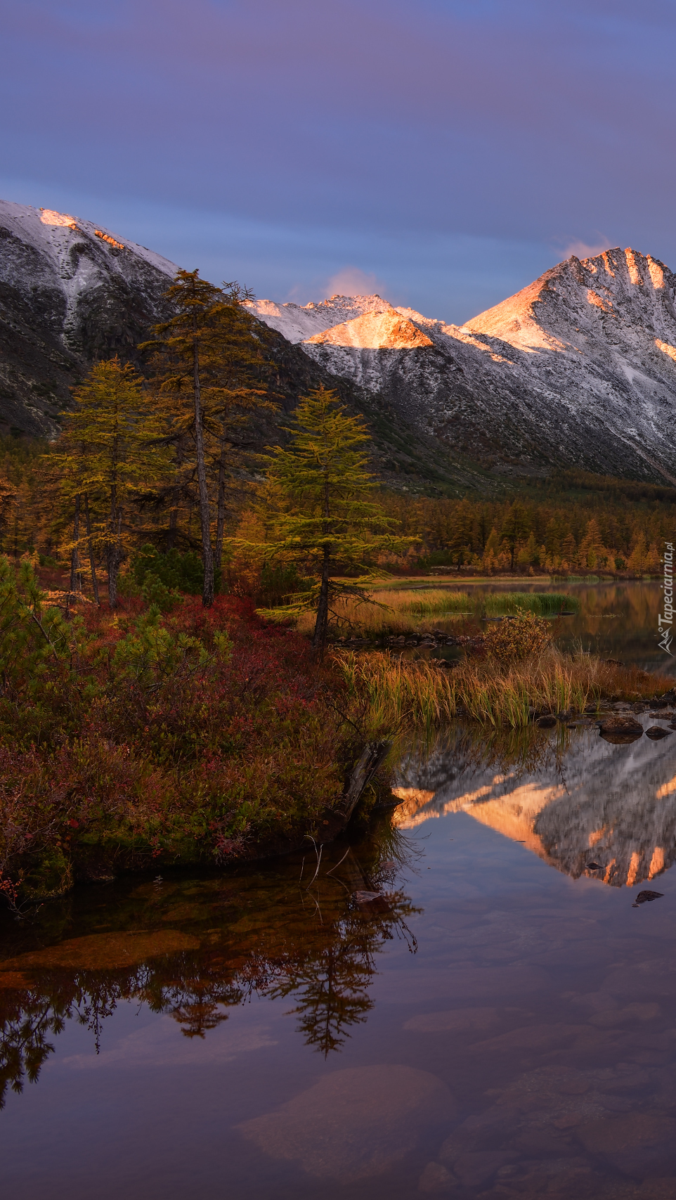
[[[8,1087],[22,1092],[26,1079],[37,1081],[67,1020],[91,1031],[98,1052],[120,1001],[145,1003],[171,1015],[186,1037],[204,1038],[253,995],[290,996],[306,1044],[325,1056],[339,1050],[373,1007],[369,985],[385,943],[402,937],[415,953],[406,918],[416,910],[394,887],[415,850],[388,821],[343,862],[344,845],[327,850],[307,889],[289,859],[218,878],[82,889],[61,912],[46,906],[30,926],[7,928],[0,1106]],[[384,911],[364,912],[360,889],[381,892]],[[163,953],[171,941],[176,949]]]

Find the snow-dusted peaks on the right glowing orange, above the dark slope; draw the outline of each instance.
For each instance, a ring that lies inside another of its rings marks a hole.
[[[260,319],[494,473],[555,464],[676,480],[676,276],[633,250],[573,257],[463,326],[380,296]]]

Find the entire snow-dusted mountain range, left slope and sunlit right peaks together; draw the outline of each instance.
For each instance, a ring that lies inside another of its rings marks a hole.
[[[53,437],[91,362],[139,362],[175,271],[90,221],[0,202],[0,428]],[[658,259],[609,250],[464,325],[379,295],[251,311],[286,409],[334,386],[366,415],[384,478],[458,491],[561,466],[676,482],[675,298]]]

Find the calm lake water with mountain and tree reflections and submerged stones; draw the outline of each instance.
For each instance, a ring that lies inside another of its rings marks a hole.
[[[626,587],[569,619],[664,668]],[[4,918],[4,1194],[676,1198],[676,733],[457,725],[398,792],[319,864]]]

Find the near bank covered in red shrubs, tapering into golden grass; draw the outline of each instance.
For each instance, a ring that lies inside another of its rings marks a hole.
[[[554,649],[533,611],[477,626],[454,665],[344,648],[318,665],[247,601],[153,600],[67,613],[29,563],[0,559],[0,889],[14,907],[127,871],[314,853],[360,798],[364,816],[391,799],[402,734],[458,718],[526,730],[672,686]]]

